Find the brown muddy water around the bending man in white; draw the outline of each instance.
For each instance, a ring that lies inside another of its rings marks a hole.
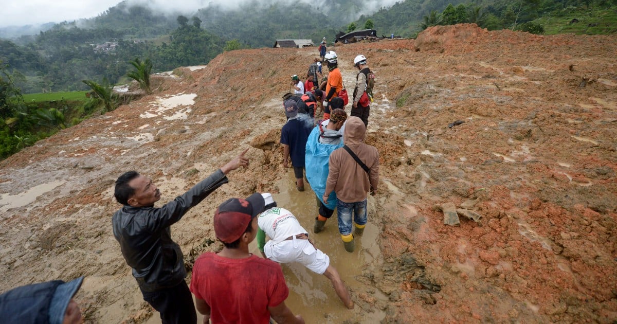
[[[299,192],[294,185],[293,169],[289,168],[286,177],[278,181],[280,193],[273,194],[278,206],[289,209],[299,220],[305,230],[315,241],[318,249],[328,254],[330,263],[341,274],[347,289],[356,301],[355,291],[366,290],[366,285],[356,278],[362,275],[368,264],[376,262],[381,252],[377,243],[379,228],[371,223],[375,215],[375,201],[369,197],[368,224],[362,236],[355,239],[355,251],[346,252],[339,234],[336,210],[326,223],[324,231],[313,233],[313,224],[317,216],[317,201],[310,185],[305,181],[305,191]],[[260,255],[257,244],[252,243],[251,252]],[[301,264],[282,265],[283,274],[289,287],[289,297],[285,301],[294,314],[300,314],[307,323],[343,323],[346,320],[360,323],[378,323],[386,314],[379,310],[363,310],[356,305],[353,310],[344,307],[336,296],[330,281],[324,275],[318,275]],[[384,296],[387,299],[387,297]]]

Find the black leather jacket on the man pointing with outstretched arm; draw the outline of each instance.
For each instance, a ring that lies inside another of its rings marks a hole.
[[[184,255],[170,226],[228,179],[219,169],[160,208],[124,206],[112,217],[114,236],[144,292],[178,285],[186,277]]]

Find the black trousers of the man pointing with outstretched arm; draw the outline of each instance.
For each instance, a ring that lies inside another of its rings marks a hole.
[[[162,324],[196,324],[197,312],[193,296],[184,280],[172,288],[147,293],[142,291],[144,301],[160,313]]]

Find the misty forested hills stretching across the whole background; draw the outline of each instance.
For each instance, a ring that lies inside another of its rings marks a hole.
[[[338,31],[375,28],[415,36],[432,25],[477,23],[532,33],[614,33],[617,0],[404,0],[370,14],[370,0],[209,4],[192,13],[157,12],[123,1],[92,19],[64,22],[37,35],[0,39],[0,61],[22,93],[83,90],[82,80],[123,81],[129,60],[149,58],[153,72],[207,64],[220,52],[269,47],[275,39],[330,41]],[[357,19],[360,12],[367,12]],[[579,17],[582,23],[569,23]],[[357,19],[357,20],[355,20]],[[542,20],[544,19],[544,20]],[[355,21],[354,21],[355,20]],[[579,28],[578,30],[573,28]]]

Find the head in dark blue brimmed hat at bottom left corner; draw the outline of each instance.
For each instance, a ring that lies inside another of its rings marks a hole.
[[[0,295],[2,323],[81,323],[81,310],[73,296],[83,276],[21,286]]]

